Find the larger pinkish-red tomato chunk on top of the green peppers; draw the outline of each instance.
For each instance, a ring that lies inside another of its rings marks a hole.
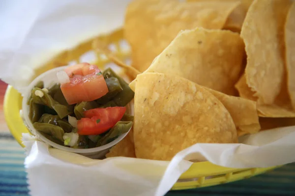
[[[61,92],[68,102],[92,101],[106,95],[109,90],[101,71],[89,63],[81,63],[64,70],[70,82],[61,84]]]

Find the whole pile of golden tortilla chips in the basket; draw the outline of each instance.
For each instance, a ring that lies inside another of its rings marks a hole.
[[[294,1],[134,0],[124,36],[134,127],[107,157],[171,160],[295,124]]]

